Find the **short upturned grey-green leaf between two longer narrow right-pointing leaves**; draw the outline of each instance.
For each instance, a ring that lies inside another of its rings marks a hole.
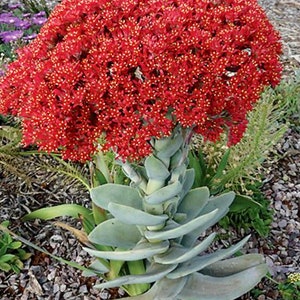
[[[205,251],[213,242],[216,233],[209,235],[204,241],[192,249],[179,246],[172,246],[167,252],[155,255],[154,261],[159,264],[179,264],[190,260],[201,252]]]

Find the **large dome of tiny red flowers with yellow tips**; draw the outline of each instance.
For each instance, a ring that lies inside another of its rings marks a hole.
[[[279,36],[256,0],[65,0],[0,80],[23,142],[86,160],[139,159],[176,124],[236,143],[279,82]]]

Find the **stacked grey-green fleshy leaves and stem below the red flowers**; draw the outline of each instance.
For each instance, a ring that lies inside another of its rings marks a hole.
[[[91,268],[107,279],[96,288],[122,286],[140,300],[225,300],[246,293],[266,274],[259,254],[232,258],[249,237],[213,253],[208,248],[215,233],[198,240],[228,212],[235,194],[192,189],[191,134],[178,127],[170,137],[153,139],[153,154],[142,166],[120,162],[130,186],[108,183],[91,190],[94,205],[108,212],[88,236],[95,247],[84,248],[97,257]],[[120,272],[112,276],[116,263]],[[142,264],[139,272],[135,264]]]

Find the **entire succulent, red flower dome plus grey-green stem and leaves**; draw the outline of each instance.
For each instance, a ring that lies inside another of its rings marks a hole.
[[[191,189],[187,154],[194,132],[239,141],[263,88],[279,82],[280,53],[255,0],[65,0],[18,51],[0,112],[22,117],[23,143],[81,161],[111,149],[131,180],[91,190],[104,213],[85,249],[109,280],[100,288],[134,296],[156,282],[136,299],[234,299],[266,273],[260,255],[223,261],[247,238],[198,256],[234,193]]]

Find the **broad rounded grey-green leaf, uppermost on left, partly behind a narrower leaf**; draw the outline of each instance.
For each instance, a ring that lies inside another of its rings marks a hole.
[[[127,185],[107,183],[91,189],[90,194],[93,202],[106,210],[109,203],[142,208],[142,198],[138,191]]]

